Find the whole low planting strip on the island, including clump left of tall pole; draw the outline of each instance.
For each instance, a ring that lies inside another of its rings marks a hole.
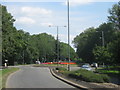
[[[74,78],[76,80],[82,80],[86,82],[96,82],[96,83],[104,83],[109,82],[110,78],[106,74],[98,74],[92,71],[79,69],[76,71],[68,71],[66,68],[59,67],[57,68],[58,72],[67,76]]]

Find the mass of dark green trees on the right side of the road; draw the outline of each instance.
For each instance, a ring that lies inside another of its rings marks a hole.
[[[120,2],[109,9],[108,21],[98,28],[90,27],[73,40],[81,62],[119,65]]]

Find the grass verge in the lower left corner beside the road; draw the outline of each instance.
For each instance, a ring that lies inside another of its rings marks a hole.
[[[0,71],[0,89],[5,87],[7,77],[19,68],[6,68]]]

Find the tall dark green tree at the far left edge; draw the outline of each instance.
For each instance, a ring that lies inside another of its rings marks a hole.
[[[16,55],[15,51],[15,33],[16,28],[13,26],[13,16],[7,12],[5,6],[2,9],[2,60],[9,60],[9,63],[13,63]]]

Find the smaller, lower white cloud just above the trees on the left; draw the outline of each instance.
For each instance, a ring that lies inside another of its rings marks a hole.
[[[16,20],[16,23],[20,23],[20,24],[35,24],[35,20],[33,20],[32,18],[28,18],[28,17],[20,17]]]

